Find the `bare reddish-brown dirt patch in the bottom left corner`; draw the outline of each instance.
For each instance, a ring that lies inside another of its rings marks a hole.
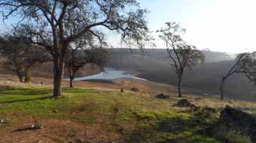
[[[31,115],[5,115],[1,118],[8,118],[9,124],[0,126],[2,143],[10,142],[123,142],[120,133],[108,124],[82,124],[72,120],[38,118]],[[26,130],[23,132],[11,133],[19,127],[28,124],[42,124],[41,130]]]

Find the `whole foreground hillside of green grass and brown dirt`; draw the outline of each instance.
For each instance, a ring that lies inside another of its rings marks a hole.
[[[178,98],[156,99],[148,94],[63,88],[64,96],[52,98],[51,88],[32,85],[0,86],[1,142],[224,142],[205,131],[218,120],[225,105],[254,114],[256,104],[219,101],[189,96],[202,109],[215,114],[190,112],[175,106]],[[18,127],[39,122],[41,130],[11,133]],[[242,137],[241,137],[242,138]]]

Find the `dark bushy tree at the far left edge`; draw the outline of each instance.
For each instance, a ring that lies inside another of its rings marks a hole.
[[[2,64],[7,70],[16,73],[20,82],[30,82],[33,67],[50,58],[40,47],[14,35],[1,37],[0,45],[0,53],[5,58]]]

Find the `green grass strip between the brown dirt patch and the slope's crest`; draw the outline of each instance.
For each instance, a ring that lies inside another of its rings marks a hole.
[[[63,88],[62,91],[62,97],[52,98],[50,88],[1,86],[0,115],[17,113],[72,119],[82,124],[111,124],[123,134],[126,142],[221,142],[207,135],[208,128],[218,120],[218,113],[192,114],[189,109],[175,107],[179,100],[175,97],[157,100],[130,92],[80,88]],[[216,109],[223,106],[212,105]]]

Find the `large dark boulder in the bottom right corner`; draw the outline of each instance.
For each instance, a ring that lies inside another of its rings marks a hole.
[[[252,142],[256,142],[256,119],[239,109],[226,106],[221,111],[218,127],[227,127],[239,133],[249,136]]]

